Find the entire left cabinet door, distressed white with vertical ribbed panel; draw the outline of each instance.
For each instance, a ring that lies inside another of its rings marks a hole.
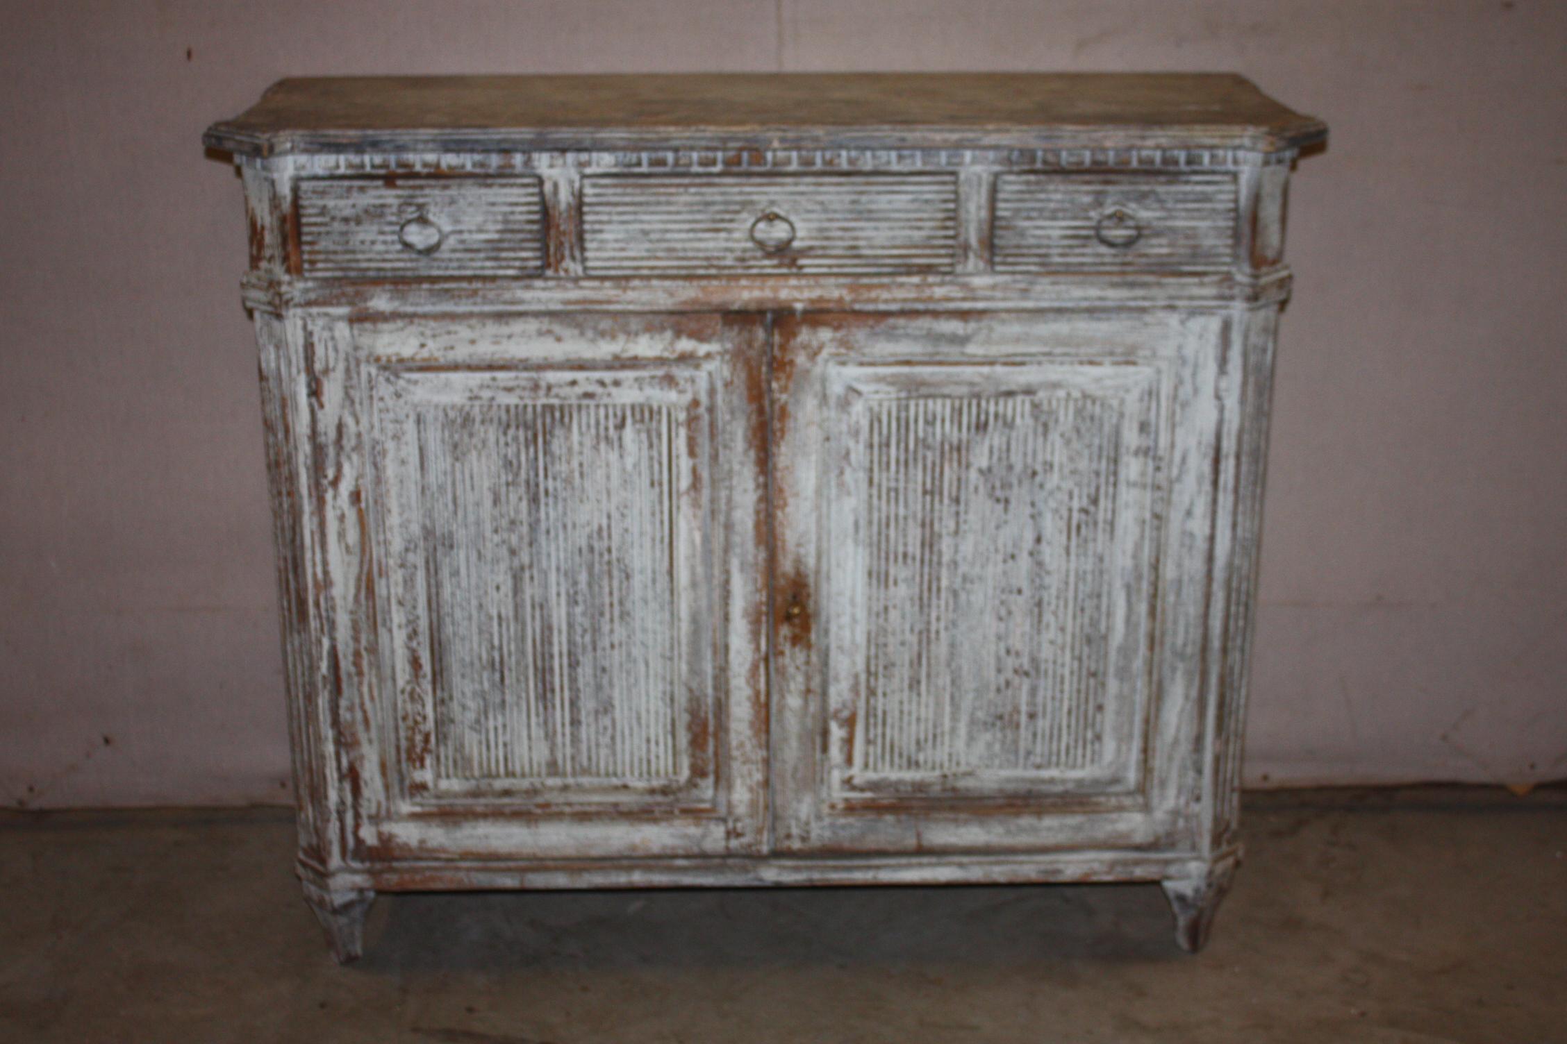
[[[379,684],[360,851],[754,851],[760,318],[353,324]]]

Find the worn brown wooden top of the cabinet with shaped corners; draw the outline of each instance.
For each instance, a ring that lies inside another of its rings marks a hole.
[[[237,155],[689,147],[1119,147],[1323,141],[1227,74],[713,74],[280,80],[207,130]]]

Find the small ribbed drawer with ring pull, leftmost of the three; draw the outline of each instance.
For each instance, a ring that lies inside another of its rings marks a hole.
[[[531,275],[544,263],[533,177],[306,180],[298,202],[306,275]]]

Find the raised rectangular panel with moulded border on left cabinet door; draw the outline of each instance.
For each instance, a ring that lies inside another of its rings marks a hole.
[[[373,368],[401,811],[716,808],[716,368]]]

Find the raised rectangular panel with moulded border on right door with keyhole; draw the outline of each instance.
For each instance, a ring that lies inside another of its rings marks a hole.
[[[831,803],[1141,794],[1166,368],[829,362],[824,382]],[[1031,438],[1040,427],[1053,437]],[[917,455],[921,443],[942,455]],[[1053,477],[1009,485],[1025,468]],[[895,526],[917,513],[920,532]],[[1062,538],[1028,546],[1047,529]],[[1030,598],[1059,573],[1050,606]],[[879,598],[874,576],[890,587]],[[934,620],[910,635],[926,615],[915,603]],[[1004,628],[979,626],[990,612]],[[882,625],[896,637],[878,635]],[[1056,629],[1050,648],[1020,648]],[[990,668],[1014,714],[931,703],[943,676],[950,690]],[[1000,750],[1009,731],[1015,747]]]

